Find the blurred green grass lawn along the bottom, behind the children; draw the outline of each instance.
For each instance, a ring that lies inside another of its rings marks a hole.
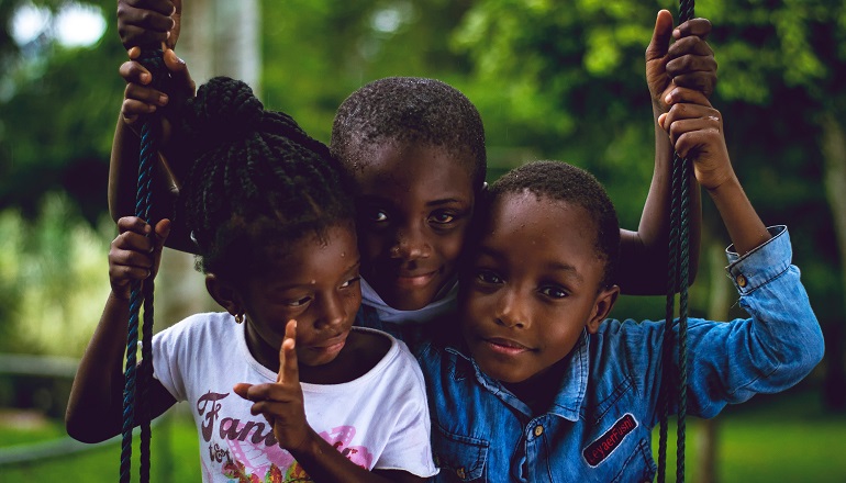
[[[721,483],[846,482],[846,415],[826,414],[817,392],[756,396],[728,407],[717,419],[717,478]],[[697,437],[702,420],[688,420],[686,480],[697,478]],[[675,480],[675,426],[670,425],[667,481]],[[64,435],[60,423],[16,430],[0,426],[3,447],[53,439]],[[136,439],[137,441],[137,439]],[[657,430],[653,439],[657,448]],[[197,433],[190,417],[177,413],[153,430],[151,481],[200,481]],[[133,451],[133,481],[137,481],[137,442]],[[120,445],[96,448],[70,458],[0,468],[3,481],[113,482],[120,469]]]

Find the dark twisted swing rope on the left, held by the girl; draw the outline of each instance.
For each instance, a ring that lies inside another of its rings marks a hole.
[[[142,49],[138,61],[153,75],[153,87],[160,89],[157,79],[167,76],[160,49]],[[135,216],[151,223],[153,164],[158,153],[160,138],[159,123],[147,117],[141,128],[141,154],[138,156],[138,187],[135,196]],[[151,223],[151,225],[154,225]],[[151,235],[155,236],[155,235]],[[141,481],[149,481],[149,427],[148,387],[153,380],[153,280],[132,283],[130,295],[130,322],[126,334],[126,367],[123,389],[123,430],[121,441],[121,483],[130,482],[132,461],[132,428],[135,422],[141,426]],[[138,346],[138,318],[144,306],[141,340],[141,366],[136,374],[136,352]],[[136,398],[137,394],[137,398]]]

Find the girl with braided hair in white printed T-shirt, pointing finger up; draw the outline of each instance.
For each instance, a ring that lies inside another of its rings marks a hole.
[[[265,111],[240,81],[212,79],[188,108],[197,160],[187,224],[225,312],[154,336],[153,417],[189,402],[203,481],[432,476],[420,368],[401,341],[352,328],[359,255],[348,186],[329,148]],[[112,293],[68,403],[74,438],[120,431],[129,284],[152,280],[169,226],[156,225],[154,243],[143,221],[119,222]]]

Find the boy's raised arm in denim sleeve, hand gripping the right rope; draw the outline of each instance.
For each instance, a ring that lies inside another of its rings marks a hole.
[[[722,116],[695,91],[679,89],[659,123],[693,162],[734,244],[728,272],[750,318],[728,324],[691,319],[688,401],[691,414],[715,415],[726,403],[783,391],[823,357],[814,312],[791,265],[787,229],[768,231],[743,191],[723,137]]]

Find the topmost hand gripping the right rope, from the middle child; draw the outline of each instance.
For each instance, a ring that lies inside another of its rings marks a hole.
[[[711,33],[711,22],[705,19],[689,20],[672,29],[672,15],[667,10],[658,12],[652,42],[646,48],[646,83],[653,104],[661,112],[669,106],[664,98],[676,87],[683,87],[711,96],[716,86],[716,60],[705,42]],[[672,45],[670,37],[675,38]]]

